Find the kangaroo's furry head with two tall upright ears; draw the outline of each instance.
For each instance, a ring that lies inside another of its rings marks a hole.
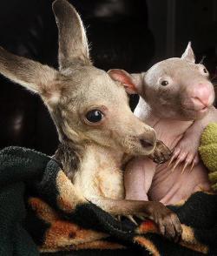
[[[128,105],[131,85],[123,86],[91,64],[82,20],[72,5],[56,0],[53,10],[59,71],[0,48],[0,73],[41,96],[61,142],[90,142],[132,155],[153,152],[155,131],[135,118]]]

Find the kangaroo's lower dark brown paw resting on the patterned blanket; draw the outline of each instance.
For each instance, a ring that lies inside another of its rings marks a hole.
[[[153,219],[161,235],[178,242],[182,227],[177,215],[160,202],[152,202],[149,207],[149,219]]]

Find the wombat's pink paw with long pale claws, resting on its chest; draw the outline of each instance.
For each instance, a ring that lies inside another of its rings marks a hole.
[[[175,146],[172,158],[168,163],[168,166],[171,166],[171,172],[174,172],[178,165],[182,165],[181,173],[184,173],[187,169],[191,172],[194,166],[199,163],[198,148],[197,141],[182,138]]]

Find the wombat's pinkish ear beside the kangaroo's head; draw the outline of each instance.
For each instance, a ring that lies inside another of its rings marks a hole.
[[[113,80],[120,82],[129,94],[140,93],[142,86],[141,74],[129,74],[127,71],[118,69],[109,70],[108,74]]]

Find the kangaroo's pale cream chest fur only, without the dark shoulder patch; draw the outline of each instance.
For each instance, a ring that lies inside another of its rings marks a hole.
[[[87,144],[73,184],[86,199],[123,198],[122,152]]]

